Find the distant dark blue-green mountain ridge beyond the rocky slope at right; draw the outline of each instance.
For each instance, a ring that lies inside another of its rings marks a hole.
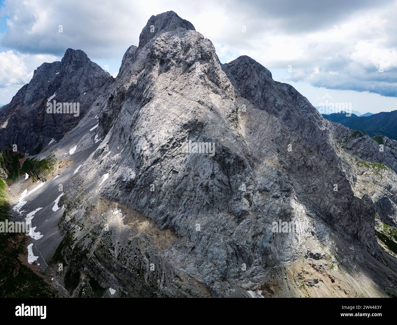
[[[346,117],[345,114],[323,116],[330,121],[364,132],[370,137],[384,135],[390,139],[397,140],[397,110],[360,117],[353,114],[351,117]]]

